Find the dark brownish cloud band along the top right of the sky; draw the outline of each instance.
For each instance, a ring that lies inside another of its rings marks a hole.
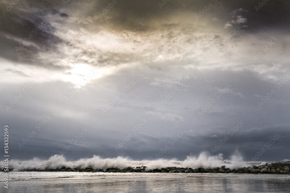
[[[117,4],[111,8],[106,16],[110,16],[110,19],[104,19],[108,23],[114,23],[114,28],[127,28],[134,29],[138,21],[146,22],[158,22],[161,19],[170,18],[171,16],[179,17],[180,12],[191,15],[195,20],[195,14],[199,14],[199,11],[204,9],[204,6],[209,5],[209,3],[215,4],[212,10],[209,10],[206,14],[211,14],[215,17],[222,17],[223,19],[229,19],[231,17],[231,12],[243,8],[247,10],[243,15],[249,21],[249,27],[253,30],[266,30],[266,29],[288,29],[289,26],[285,25],[285,21],[289,21],[289,7],[290,1],[266,1],[265,5],[261,8],[259,7],[259,1],[168,1],[164,6],[158,5],[162,4],[162,1],[117,1]],[[103,11],[103,8],[108,6],[107,3],[110,1],[100,1],[96,12],[99,13]],[[184,8],[184,5],[185,8]],[[258,6],[256,11],[255,6]],[[161,7],[161,9],[160,9]],[[205,14],[205,15],[206,15]]]

